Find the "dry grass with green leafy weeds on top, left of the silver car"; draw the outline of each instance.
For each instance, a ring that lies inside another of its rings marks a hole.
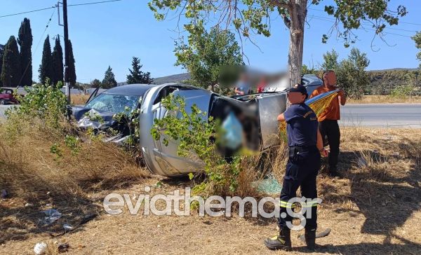
[[[22,198],[39,191],[84,196],[148,174],[115,144],[90,139],[67,120],[58,88],[27,89],[20,107],[0,125],[0,188]]]

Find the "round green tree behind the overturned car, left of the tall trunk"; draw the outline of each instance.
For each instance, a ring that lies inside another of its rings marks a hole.
[[[213,88],[213,85],[220,83],[222,68],[244,64],[232,32],[214,27],[209,33],[191,34],[188,41],[188,45],[182,40],[175,43],[175,65],[189,71],[193,85]]]

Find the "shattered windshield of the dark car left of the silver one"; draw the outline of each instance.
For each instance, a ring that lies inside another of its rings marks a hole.
[[[128,107],[129,111],[133,111],[140,103],[140,96],[135,95],[116,95],[116,94],[100,94],[92,99],[85,106],[87,108],[98,111],[111,111],[113,113],[122,113]]]

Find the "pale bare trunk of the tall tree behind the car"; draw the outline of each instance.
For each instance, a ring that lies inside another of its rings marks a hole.
[[[304,45],[304,25],[307,15],[307,0],[290,0],[290,44],[288,52],[288,72],[290,86],[301,82],[302,50]]]

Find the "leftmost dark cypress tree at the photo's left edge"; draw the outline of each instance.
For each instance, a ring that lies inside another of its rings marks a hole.
[[[4,48],[3,64],[1,68],[1,82],[6,87],[16,87],[20,81],[20,55],[15,36],[11,36]]]

